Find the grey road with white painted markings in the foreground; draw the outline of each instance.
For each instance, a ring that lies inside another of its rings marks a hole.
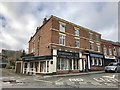
[[[3,88],[118,88],[120,73],[97,73],[79,76],[27,76],[2,70]]]

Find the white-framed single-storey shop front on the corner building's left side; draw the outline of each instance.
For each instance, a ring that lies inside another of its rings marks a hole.
[[[52,56],[23,57],[23,74],[35,75],[50,73]]]

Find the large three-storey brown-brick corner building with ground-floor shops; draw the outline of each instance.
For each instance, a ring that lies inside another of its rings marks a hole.
[[[56,16],[45,18],[29,40],[29,55],[17,64],[24,74],[103,70],[101,34]]]

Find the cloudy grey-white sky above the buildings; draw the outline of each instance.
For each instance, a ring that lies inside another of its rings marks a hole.
[[[28,50],[30,37],[51,15],[118,41],[117,2],[0,2],[0,51]]]

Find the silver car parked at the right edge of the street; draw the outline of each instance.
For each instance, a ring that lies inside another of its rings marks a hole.
[[[105,67],[105,72],[120,72],[120,63],[112,62]]]

